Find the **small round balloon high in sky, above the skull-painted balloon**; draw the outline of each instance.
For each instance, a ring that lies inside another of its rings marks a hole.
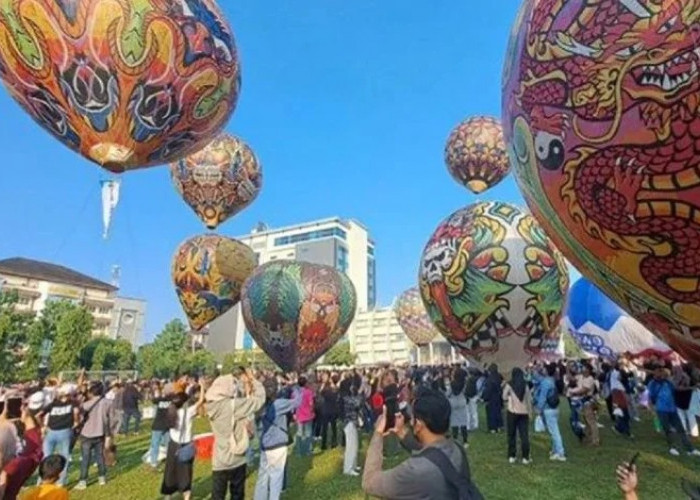
[[[510,169],[501,123],[488,116],[464,120],[447,139],[445,163],[450,175],[473,193],[501,182]]]

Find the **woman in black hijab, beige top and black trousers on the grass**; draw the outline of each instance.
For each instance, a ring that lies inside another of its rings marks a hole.
[[[532,395],[525,381],[525,374],[520,368],[513,368],[510,382],[503,388],[503,401],[506,402],[507,418],[506,429],[508,431],[508,461],[514,464],[517,461],[517,446],[515,433],[520,434],[520,445],[523,454],[523,464],[528,465],[530,460],[530,414],[532,413]]]

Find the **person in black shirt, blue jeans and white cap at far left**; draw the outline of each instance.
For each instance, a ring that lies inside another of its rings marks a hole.
[[[78,422],[78,409],[71,400],[70,388],[66,385],[61,386],[58,389],[58,398],[45,411],[47,432],[43,444],[44,456],[57,453],[66,459],[66,466],[58,480],[58,483],[64,486],[70,459],[71,434],[73,425]]]

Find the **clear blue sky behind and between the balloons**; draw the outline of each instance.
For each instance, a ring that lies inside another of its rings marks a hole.
[[[449,176],[448,133],[500,116],[503,55],[519,0],[226,1],[243,89],[227,126],[256,151],[264,186],[219,232],[339,215],[376,241],[381,304],[416,277],[425,241],[477,200]],[[146,338],[182,312],[170,280],[179,243],[204,232],[167,168],[122,176],[113,233],[101,238],[97,166],[66,149],[0,92],[0,257],[49,260],[148,300]],[[508,178],[480,200],[523,205]]]

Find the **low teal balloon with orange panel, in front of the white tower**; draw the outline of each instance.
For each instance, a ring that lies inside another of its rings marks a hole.
[[[355,287],[328,266],[276,260],[260,266],[243,287],[241,308],[255,342],[287,371],[303,371],[348,330]]]

